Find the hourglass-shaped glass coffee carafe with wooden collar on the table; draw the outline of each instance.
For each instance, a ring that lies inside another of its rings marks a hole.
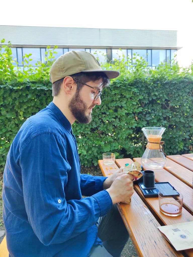
[[[166,154],[163,151],[161,141],[165,131],[163,127],[144,127],[142,131],[147,139],[146,150],[142,155],[141,163],[145,168],[162,168],[166,164]]]

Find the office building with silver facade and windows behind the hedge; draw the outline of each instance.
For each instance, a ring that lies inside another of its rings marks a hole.
[[[23,66],[24,54],[32,53],[31,64],[45,62],[45,52],[49,45],[56,49],[58,58],[70,50],[84,50],[96,53],[100,62],[113,61],[119,56],[133,58],[139,54],[151,68],[161,62],[168,62],[176,56],[177,31],[172,30],[130,30],[130,29],[91,29],[66,27],[35,27],[0,25],[0,39],[12,44],[13,59]],[[119,50],[121,49],[121,50]],[[106,58],[105,58],[106,56]]]

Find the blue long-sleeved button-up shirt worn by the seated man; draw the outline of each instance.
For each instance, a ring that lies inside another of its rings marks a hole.
[[[80,174],[71,124],[54,103],[31,116],[15,136],[4,170],[10,256],[89,256],[101,244],[95,224],[112,207],[105,179]]]

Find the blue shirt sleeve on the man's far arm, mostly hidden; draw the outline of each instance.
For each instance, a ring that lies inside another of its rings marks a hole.
[[[103,190],[103,182],[107,177],[81,174],[81,193],[84,196],[91,196]]]

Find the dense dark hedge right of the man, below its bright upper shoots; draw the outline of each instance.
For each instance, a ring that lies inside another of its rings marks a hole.
[[[116,158],[141,157],[145,147],[142,127],[163,126],[167,155],[190,152],[193,140],[193,81],[117,80],[106,90],[89,125],[76,125],[74,133],[84,165],[97,163],[103,152]]]

